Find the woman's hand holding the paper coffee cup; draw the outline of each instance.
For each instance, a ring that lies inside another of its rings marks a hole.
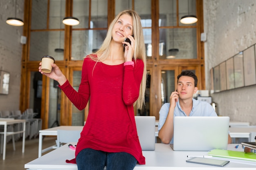
[[[56,80],[60,84],[60,86],[67,81],[67,78],[65,77],[65,75],[63,75],[63,73],[61,72],[61,69],[56,64],[52,64],[51,73],[43,72],[41,70],[41,65],[42,65],[42,62],[39,63],[38,70],[42,75],[46,75],[47,77]]]

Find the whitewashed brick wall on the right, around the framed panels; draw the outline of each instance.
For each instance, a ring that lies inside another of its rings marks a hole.
[[[255,0],[204,0],[206,85],[210,69],[256,43]],[[256,85],[213,94],[220,115],[256,125]]]

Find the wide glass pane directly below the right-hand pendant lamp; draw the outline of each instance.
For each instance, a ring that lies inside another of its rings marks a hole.
[[[159,29],[159,58],[196,59],[196,29]]]

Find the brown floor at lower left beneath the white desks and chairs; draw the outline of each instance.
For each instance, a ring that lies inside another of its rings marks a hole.
[[[47,148],[56,144],[55,140],[56,136],[44,137],[42,147]],[[26,163],[38,158],[38,137],[31,140],[26,139],[24,153],[22,153],[22,139],[16,141],[15,146],[16,150],[14,151],[12,142],[7,143],[5,160],[2,160],[2,155],[0,155],[0,170],[25,170],[24,165]]]

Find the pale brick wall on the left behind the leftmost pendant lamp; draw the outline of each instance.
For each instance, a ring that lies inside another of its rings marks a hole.
[[[23,20],[24,0],[17,0],[16,17]],[[6,23],[15,16],[15,1],[0,2],[0,69],[10,73],[9,95],[0,95],[0,110],[19,109],[23,26]]]

